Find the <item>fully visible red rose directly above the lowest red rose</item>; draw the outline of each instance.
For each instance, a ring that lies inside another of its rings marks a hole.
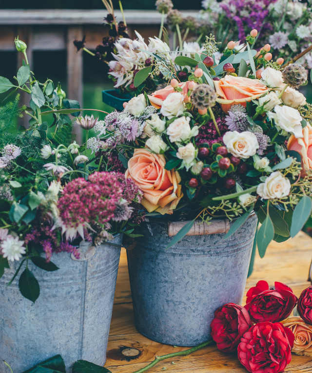
[[[292,289],[275,281],[275,289],[269,288],[266,281],[259,281],[247,292],[246,310],[255,323],[277,322],[286,319],[297,303]]]

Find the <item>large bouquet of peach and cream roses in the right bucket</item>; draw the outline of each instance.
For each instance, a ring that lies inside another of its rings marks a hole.
[[[255,36],[253,30],[249,40]],[[208,224],[238,218],[229,237],[254,210],[263,256],[272,239],[293,237],[312,210],[312,107],[296,90],[307,71],[297,63],[282,67],[248,42],[246,52],[234,50],[215,65],[216,45],[211,36],[205,53],[176,58],[190,68],[186,82],[179,82],[175,65],[155,55],[171,84],[109,114],[95,139],[103,152],[119,157],[149,213],[183,208],[190,222],[171,246],[197,218]]]

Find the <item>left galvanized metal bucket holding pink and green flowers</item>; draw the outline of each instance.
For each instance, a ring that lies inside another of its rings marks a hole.
[[[114,303],[122,235],[96,249],[83,242],[80,260],[69,253],[52,257],[59,267],[46,272],[29,263],[40,285],[32,303],[20,294],[18,280],[7,286],[15,268],[0,279],[0,373],[21,373],[60,354],[68,372],[79,360],[104,365]]]

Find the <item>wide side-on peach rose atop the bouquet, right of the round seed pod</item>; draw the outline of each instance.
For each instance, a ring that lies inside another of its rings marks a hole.
[[[226,75],[214,81],[216,94],[220,97],[216,101],[227,113],[233,104],[246,106],[246,101],[257,99],[270,90],[257,79],[234,77]]]

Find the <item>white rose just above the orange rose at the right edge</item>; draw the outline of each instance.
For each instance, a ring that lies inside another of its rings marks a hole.
[[[276,105],[275,113],[268,113],[268,118],[273,119],[276,128],[292,133],[296,138],[302,137],[302,117],[297,109],[290,106]]]

